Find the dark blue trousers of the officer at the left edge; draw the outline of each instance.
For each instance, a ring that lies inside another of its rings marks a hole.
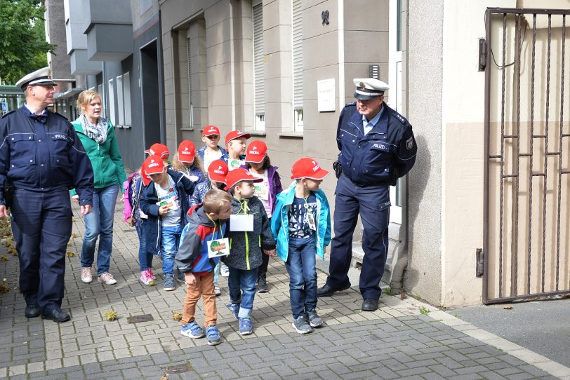
[[[43,315],[61,307],[65,286],[65,252],[72,232],[67,189],[15,189],[12,232],[20,261],[20,291],[27,305]]]

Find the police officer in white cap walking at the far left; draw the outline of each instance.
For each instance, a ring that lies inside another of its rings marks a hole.
[[[70,319],[61,310],[72,232],[69,189],[77,189],[81,214],[87,215],[93,169],[71,123],[46,109],[55,93],[49,67],[16,85],[26,102],[0,118],[0,217],[8,216],[9,207],[25,316],[60,323]]]

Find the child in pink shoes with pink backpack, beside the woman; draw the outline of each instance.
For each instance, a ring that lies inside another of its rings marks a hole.
[[[152,253],[147,252],[146,238],[145,238],[145,222],[147,215],[140,210],[140,197],[143,195],[145,186],[150,183],[150,177],[143,174],[141,167],[136,172],[133,172],[128,179],[124,182],[123,188],[125,189],[123,210],[124,221],[134,226],[138,235],[138,263],[140,266],[140,282],[145,285],[155,280],[154,273],[152,273]]]

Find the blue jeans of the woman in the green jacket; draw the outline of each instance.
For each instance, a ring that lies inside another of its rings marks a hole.
[[[111,250],[113,248],[113,217],[115,204],[119,194],[119,185],[95,189],[93,191],[93,208],[84,216],[85,238],[81,248],[81,268],[93,266],[95,243],[99,238],[97,254],[97,276],[109,271]]]

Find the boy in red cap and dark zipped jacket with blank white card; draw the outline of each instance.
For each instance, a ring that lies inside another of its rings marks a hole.
[[[239,334],[253,332],[251,311],[256,297],[256,280],[261,257],[275,255],[275,240],[263,203],[253,195],[254,182],[263,179],[253,177],[250,172],[238,168],[227,173],[226,190],[232,196],[232,217],[230,217],[230,255],[223,258],[230,267],[227,287],[230,290],[228,308],[239,320]]]

